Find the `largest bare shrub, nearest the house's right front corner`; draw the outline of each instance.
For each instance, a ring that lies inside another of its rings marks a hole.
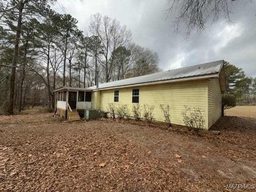
[[[184,105],[185,110],[182,112],[183,121],[189,130],[198,132],[204,129],[205,120],[200,108],[193,108]]]

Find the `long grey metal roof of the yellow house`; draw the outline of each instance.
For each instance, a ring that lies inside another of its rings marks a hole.
[[[174,70],[157,72],[149,75],[138,76],[108,83],[99,84],[98,89],[114,88],[119,86],[129,86],[144,83],[162,82],[166,80],[186,80],[200,79],[204,77],[218,77],[224,60],[214,61],[194,66],[178,68]],[[88,89],[96,90],[96,86],[88,87]]]

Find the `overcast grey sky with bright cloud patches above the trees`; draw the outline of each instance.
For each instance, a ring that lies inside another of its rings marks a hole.
[[[228,22],[220,19],[209,24],[200,34],[192,32],[189,40],[184,33],[176,34],[170,27],[172,16],[164,19],[167,0],[62,0],[66,13],[78,20],[85,31],[90,15],[99,12],[116,18],[132,31],[136,44],[158,53],[163,70],[226,60],[256,76],[256,2],[247,6],[234,4]],[[238,1],[240,2],[240,1]],[[61,10],[60,10],[61,12]]]

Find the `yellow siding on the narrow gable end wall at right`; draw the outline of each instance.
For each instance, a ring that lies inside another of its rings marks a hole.
[[[220,83],[218,79],[208,81],[208,128],[221,116]]]

